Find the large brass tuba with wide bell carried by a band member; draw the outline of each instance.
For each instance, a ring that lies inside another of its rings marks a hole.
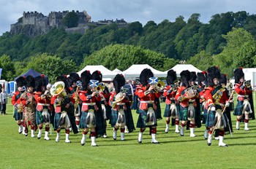
[[[64,98],[67,96],[66,91],[64,90],[65,84],[62,81],[56,82],[53,84],[53,86],[50,88],[50,95],[56,96],[56,104],[61,105],[61,102],[64,100]]]

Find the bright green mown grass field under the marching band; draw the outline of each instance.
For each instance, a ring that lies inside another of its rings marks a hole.
[[[162,103],[162,114],[165,103]],[[138,114],[133,111],[135,125]],[[232,116],[233,127],[236,117]],[[0,168],[255,168],[256,125],[249,121],[250,131],[234,130],[233,138],[225,135],[228,147],[219,147],[213,140],[206,145],[203,138],[205,127],[195,129],[196,138],[189,137],[189,130],[181,137],[170,127],[165,133],[165,119],[158,121],[157,140],[161,144],[151,144],[151,135],[146,129],[143,144],[138,144],[137,128],[125,135],[126,140],[112,138],[113,130],[108,125],[108,138],[98,138],[97,147],[80,145],[81,133],[71,133],[72,144],[64,143],[64,130],[61,140],[55,142],[56,133],[52,130],[50,141],[25,137],[18,134],[18,125],[12,118],[12,106],[7,105],[7,115],[0,116]],[[30,134],[30,133],[29,133]]]

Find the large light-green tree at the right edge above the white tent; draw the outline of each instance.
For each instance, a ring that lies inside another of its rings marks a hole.
[[[238,67],[255,67],[256,42],[252,34],[244,28],[233,28],[232,31],[223,35],[227,46],[214,58],[217,65],[227,75],[233,76],[233,69]]]

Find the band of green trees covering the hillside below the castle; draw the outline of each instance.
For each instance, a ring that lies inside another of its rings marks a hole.
[[[144,26],[139,22],[124,28],[112,24],[88,30],[84,35],[53,28],[48,34],[30,39],[6,32],[0,37],[0,56],[14,66],[13,72],[6,72],[8,80],[32,68],[36,60],[41,62],[34,69],[46,74],[50,64],[42,65],[50,58],[54,58],[50,62],[65,67],[55,74],[69,74],[86,64],[123,71],[133,63],[148,63],[165,71],[178,60],[186,60],[201,70],[218,65],[223,73],[232,76],[237,66],[255,66],[255,28],[256,15],[241,11],[213,15],[208,23],[201,23],[200,14],[195,13],[187,22],[178,16],[174,22],[148,21]],[[39,67],[43,67],[42,71]]]

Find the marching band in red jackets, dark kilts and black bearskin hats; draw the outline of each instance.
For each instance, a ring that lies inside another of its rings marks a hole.
[[[132,84],[131,89],[125,87],[126,79],[122,74],[116,74],[113,87],[107,86],[102,82],[100,71],[91,74],[87,70],[80,76],[76,73],[69,74],[69,77],[59,76],[53,85],[49,85],[43,75],[20,76],[16,79],[18,90],[12,96],[13,117],[18,133],[23,135],[29,134],[30,126],[32,138],[36,137],[38,129],[37,138],[44,134],[44,140],[50,141],[52,125],[56,131],[56,142],[60,141],[61,129],[64,129],[65,143],[71,143],[70,131],[74,134],[82,132],[80,144],[84,146],[90,130],[91,146],[97,146],[96,138],[108,138],[108,123],[113,127],[113,140],[117,140],[120,128],[120,140],[125,141],[124,134],[135,130],[132,109],[136,109],[133,102],[138,101],[138,143],[143,143],[143,133],[149,128],[151,143],[159,144],[157,121],[162,119],[159,103],[162,95],[166,118],[163,132],[169,132],[171,122],[175,125],[175,133],[186,135],[187,126],[190,137],[194,138],[197,136],[196,128],[205,125],[203,137],[207,140],[206,144],[211,146],[215,136],[219,146],[225,147],[225,132],[233,133],[230,103],[236,99],[233,111],[237,119],[236,130],[240,129],[241,122],[244,122],[244,130],[249,130],[249,119],[255,119],[255,114],[252,87],[250,81],[244,79],[243,68],[234,71],[235,84],[231,93],[227,90],[226,75],[221,74],[217,66],[197,74],[189,70],[181,71],[180,76],[178,80],[176,71],[171,69],[167,72],[165,84],[149,68],[145,68],[135,89]],[[134,90],[132,98],[129,90]],[[237,98],[234,98],[234,93],[237,93]]]

